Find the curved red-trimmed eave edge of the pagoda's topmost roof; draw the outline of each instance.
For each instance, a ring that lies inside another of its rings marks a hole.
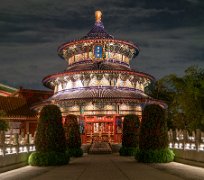
[[[70,41],[70,42],[66,42],[64,44],[62,44],[61,46],[59,46],[59,48],[57,49],[58,55],[62,58],[62,50],[72,46],[72,45],[76,45],[76,44],[81,44],[81,43],[89,43],[89,42],[99,42],[99,41],[105,41],[105,42],[117,42],[117,43],[121,43],[121,44],[125,44],[130,46],[133,49],[137,49],[137,54],[135,56],[137,56],[139,54],[139,47],[136,44],[133,44],[131,42],[128,41],[124,41],[124,40],[119,40],[119,39],[82,39],[82,40],[74,40],[74,41]]]

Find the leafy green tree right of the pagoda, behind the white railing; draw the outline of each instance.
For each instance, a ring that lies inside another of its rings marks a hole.
[[[168,104],[168,127],[204,130],[204,69],[191,66],[183,77],[171,74],[157,81],[150,95]]]

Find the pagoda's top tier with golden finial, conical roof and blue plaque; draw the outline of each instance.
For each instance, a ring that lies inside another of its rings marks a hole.
[[[119,60],[129,64],[129,61],[139,54],[136,44],[115,39],[105,31],[101,15],[100,11],[95,12],[95,24],[85,36],[66,42],[58,48],[59,56],[65,59],[68,65],[85,60]]]

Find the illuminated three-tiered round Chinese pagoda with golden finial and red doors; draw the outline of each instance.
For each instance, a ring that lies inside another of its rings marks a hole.
[[[99,138],[120,143],[125,115],[141,117],[145,104],[164,106],[144,92],[154,77],[130,68],[130,61],[139,54],[138,46],[108,34],[101,15],[95,12],[95,24],[87,35],[58,48],[68,66],[43,79],[54,95],[35,107],[40,110],[55,104],[63,117],[78,116],[84,144]]]

